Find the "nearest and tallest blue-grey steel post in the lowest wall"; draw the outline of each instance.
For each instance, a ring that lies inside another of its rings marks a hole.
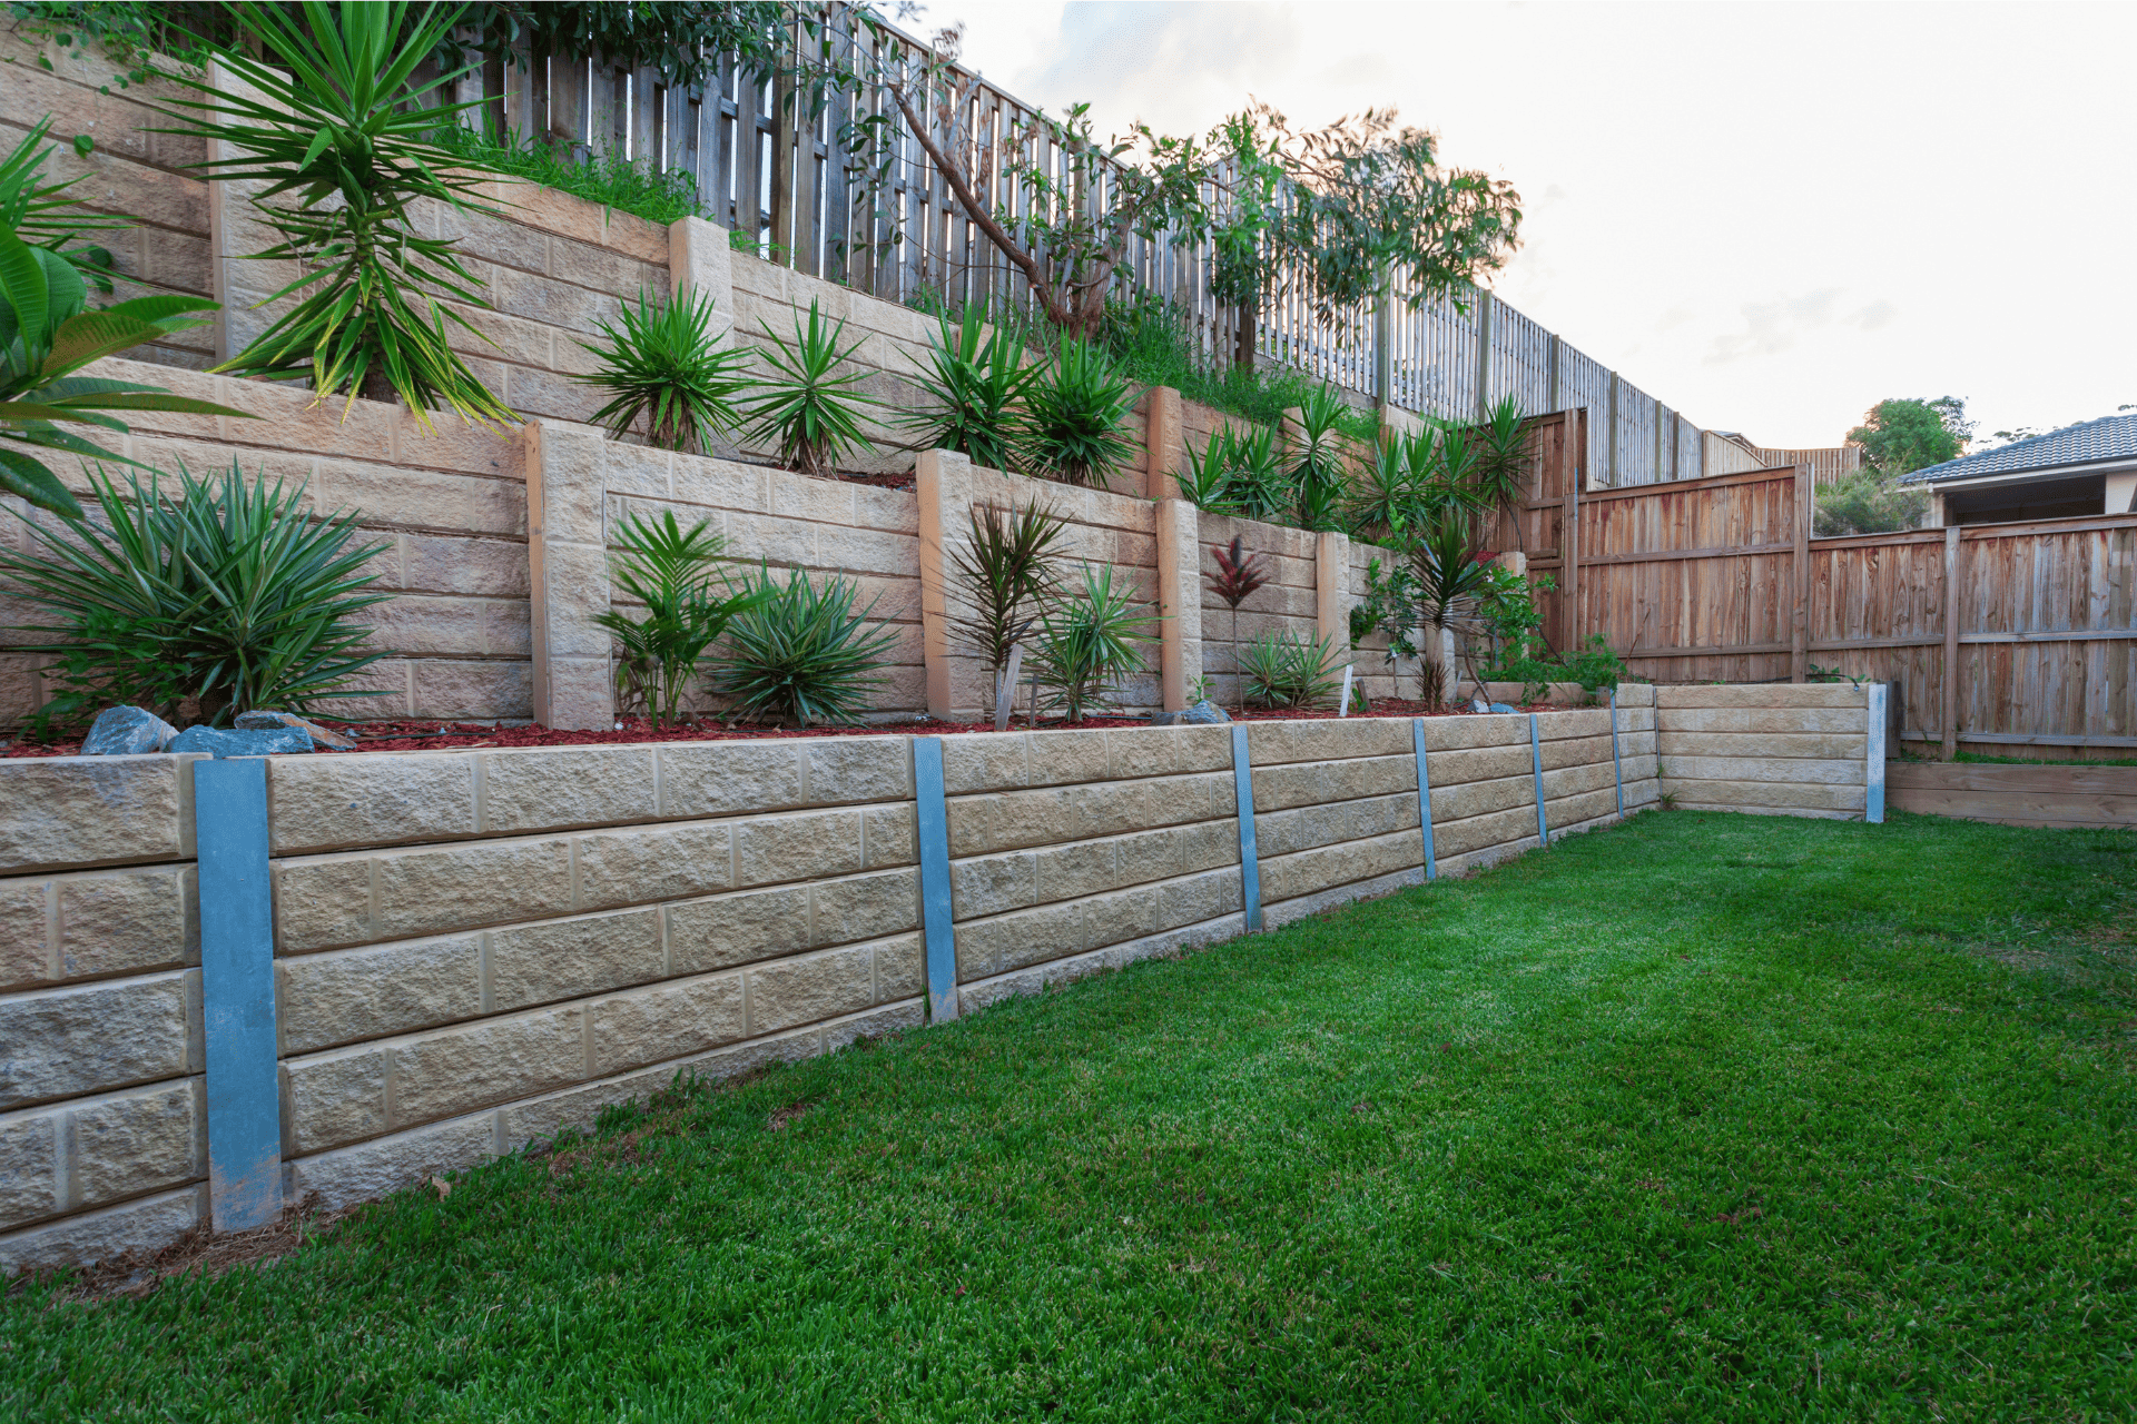
[[[218,1232],[244,1232],[282,1213],[267,762],[194,762],[192,801],[201,856],[207,1200]]]

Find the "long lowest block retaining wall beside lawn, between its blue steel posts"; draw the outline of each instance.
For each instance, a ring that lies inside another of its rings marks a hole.
[[[1628,687],[1626,813],[1660,798],[1654,715]],[[1541,713],[1534,751],[1526,715],[1428,719],[1440,873],[1537,843],[1539,766],[1554,835],[1611,822],[1609,717]],[[1237,935],[1233,732],[942,739],[947,1003]],[[1408,719],[1244,732],[1265,924],[1423,877]],[[915,741],[269,758],[280,1198],[919,1025]],[[0,762],[0,1268],[209,1211],[197,760]]]

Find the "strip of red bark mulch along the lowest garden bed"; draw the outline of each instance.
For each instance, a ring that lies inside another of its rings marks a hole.
[[[1522,711],[1547,711],[1547,702],[1537,702],[1532,707],[1522,707]],[[1227,709],[1229,711],[1229,709]],[[1250,711],[1244,717],[1233,713],[1239,722],[1319,722],[1333,717],[1333,711],[1325,709],[1293,709],[1293,711]],[[1372,705],[1370,713],[1355,713],[1366,717],[1470,717],[1475,713],[1462,709],[1428,707],[1423,702],[1413,702],[1406,698],[1381,698]],[[415,722],[327,722],[318,719],[338,732],[348,732],[357,737],[361,745],[357,751],[474,751],[477,747],[598,747],[598,745],[622,745],[622,743],[643,743],[643,741],[754,741],[754,739],[786,739],[786,737],[902,737],[906,732],[917,732],[921,737],[945,737],[953,732],[992,732],[992,722],[936,722],[932,717],[921,717],[915,722],[878,722],[872,726],[812,726],[812,728],[791,728],[791,726],[759,726],[759,724],[737,724],[727,726],[718,719],[695,722],[688,726],[667,726],[654,730],[645,719],[624,722],[620,730],[609,732],[553,732],[545,726],[487,726],[481,722],[440,722],[440,719],[415,719]],[[1064,722],[1041,722],[1041,730],[1064,730]],[[1107,726],[1145,726],[1143,717],[1086,717],[1081,728],[1107,728]],[[1009,724],[1013,732],[1030,730],[1028,717],[1013,717]],[[13,745],[0,747],[0,758],[11,756],[75,756],[81,751],[81,737],[62,737],[47,743],[17,741]]]

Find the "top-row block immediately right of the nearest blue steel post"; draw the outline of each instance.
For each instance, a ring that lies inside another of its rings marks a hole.
[[[269,758],[274,854],[474,835],[474,764],[466,751]]]

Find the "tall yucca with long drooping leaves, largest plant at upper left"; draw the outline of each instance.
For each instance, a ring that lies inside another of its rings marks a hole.
[[[408,11],[404,0],[233,6],[261,56],[214,43],[207,51],[248,88],[173,77],[199,98],[158,109],[173,122],[158,132],[231,149],[233,158],[194,167],[218,181],[263,184],[254,205],[280,241],[250,256],[301,269],[261,303],[301,292],[297,305],[216,369],[308,378],[318,399],[346,391],[350,404],[383,384],[425,429],[434,408],[474,423],[517,423],[451,348],[455,331],[481,337],[451,305],[489,305],[481,282],[451,237],[425,237],[410,216],[419,199],[496,213],[477,199],[477,184],[496,169],[434,137],[470,107],[436,102],[468,70],[415,77],[466,6]],[[284,196],[293,201],[278,201]]]

